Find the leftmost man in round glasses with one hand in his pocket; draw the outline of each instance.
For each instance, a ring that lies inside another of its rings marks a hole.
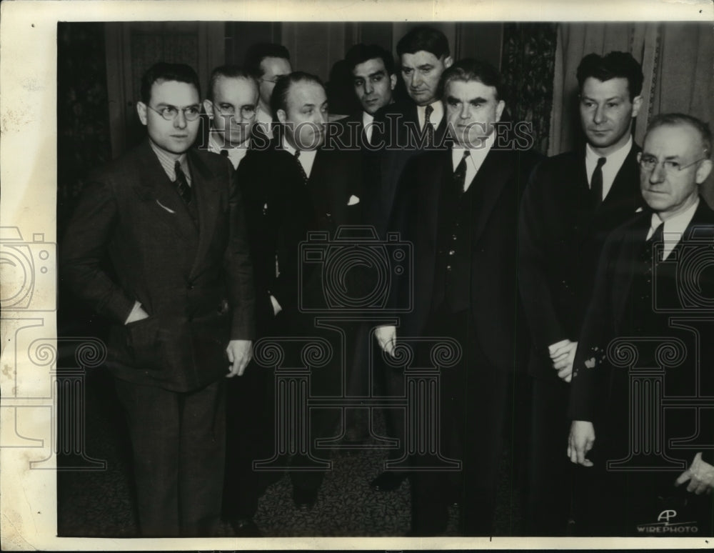
[[[143,536],[211,533],[224,377],[251,357],[243,205],[231,164],[189,149],[199,101],[190,67],[146,72],[136,106],[149,137],[94,175],[61,250],[62,278],[113,322],[107,365],[129,423]]]

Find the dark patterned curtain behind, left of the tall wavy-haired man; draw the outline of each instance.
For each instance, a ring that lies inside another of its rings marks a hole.
[[[543,154],[548,151],[556,38],[555,24],[503,26],[501,73],[508,91],[508,116],[533,123],[533,147]]]

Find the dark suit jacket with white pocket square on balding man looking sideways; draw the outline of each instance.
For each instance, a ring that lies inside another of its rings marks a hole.
[[[248,152],[238,166],[261,313],[272,312],[271,294],[288,312],[297,309],[299,294],[308,303],[323,303],[323,264],[303,264],[300,243],[308,231],[325,231],[326,249],[338,226],[362,221],[358,151],[318,149],[307,184],[296,164],[273,142],[270,149]],[[348,205],[351,196],[358,202]]]

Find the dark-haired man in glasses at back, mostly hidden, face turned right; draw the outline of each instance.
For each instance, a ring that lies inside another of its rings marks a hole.
[[[260,102],[258,104],[258,126],[263,134],[272,138],[273,114],[270,99],[273,88],[281,76],[293,71],[290,64],[290,53],[282,44],[260,42],[253,44],[246,51],[245,67],[258,80]]]

